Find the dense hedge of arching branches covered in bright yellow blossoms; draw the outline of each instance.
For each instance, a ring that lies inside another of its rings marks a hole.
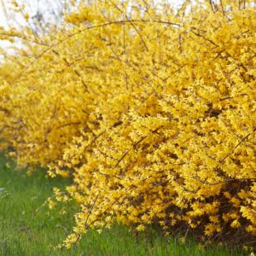
[[[255,3],[81,1],[64,18],[40,36],[0,33],[15,45],[0,67],[1,145],[73,178],[55,189],[80,206],[64,245],[116,221],[253,238]]]

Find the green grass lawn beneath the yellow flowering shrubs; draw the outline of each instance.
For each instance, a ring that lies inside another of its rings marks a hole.
[[[80,243],[70,250],[53,250],[72,230],[72,207],[67,215],[44,207],[54,186],[64,187],[63,179],[44,177],[6,167],[0,157],[0,255],[248,255],[225,247],[201,249],[195,242],[180,242],[178,237],[166,238],[155,230],[147,230],[135,237],[127,228],[116,225],[101,235],[90,230]],[[43,207],[42,207],[43,206]],[[39,209],[37,211],[37,209]]]

